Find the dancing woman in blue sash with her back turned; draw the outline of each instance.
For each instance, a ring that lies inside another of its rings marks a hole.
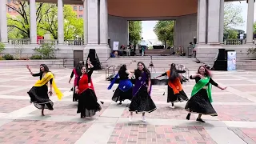
[[[130,82],[130,78],[132,77],[132,74],[129,70],[126,69],[126,65],[122,65],[120,67],[120,70],[118,71],[118,74],[114,77],[114,80],[110,83],[110,86],[107,88],[110,90],[112,86],[114,85],[114,82],[116,79],[120,77],[118,88],[114,91],[114,95],[112,97],[112,100],[114,102],[118,102],[119,106],[122,106],[122,101],[129,99],[131,100],[133,97],[133,84]]]

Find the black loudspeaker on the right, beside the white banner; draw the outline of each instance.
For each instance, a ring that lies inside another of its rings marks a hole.
[[[218,49],[218,58],[214,62],[214,70],[227,70],[226,50]]]

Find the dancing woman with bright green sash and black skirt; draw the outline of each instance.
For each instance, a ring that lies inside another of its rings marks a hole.
[[[201,118],[202,114],[218,116],[211,105],[211,102],[213,102],[211,98],[211,85],[221,90],[226,90],[226,87],[218,86],[211,78],[210,70],[207,70],[205,66],[200,66],[198,74],[191,75],[190,79],[195,79],[196,84],[192,90],[190,100],[186,103],[185,109],[190,113],[197,113],[198,122],[204,122]],[[186,116],[187,120],[190,120],[190,113]]]

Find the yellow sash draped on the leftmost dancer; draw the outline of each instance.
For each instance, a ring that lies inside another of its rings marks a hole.
[[[57,95],[58,99],[62,99],[63,94],[60,90],[58,90],[58,87],[54,82],[54,74],[52,74],[51,72],[46,73],[41,80],[35,82],[34,86],[44,86],[47,82],[50,81],[51,78],[53,78],[52,86],[54,87],[55,94]]]

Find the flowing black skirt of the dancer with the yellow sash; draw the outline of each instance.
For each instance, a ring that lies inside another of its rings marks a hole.
[[[54,102],[52,102],[48,96],[48,86],[33,86],[27,94],[30,95],[30,102],[34,103],[34,106],[38,109],[54,110]]]

